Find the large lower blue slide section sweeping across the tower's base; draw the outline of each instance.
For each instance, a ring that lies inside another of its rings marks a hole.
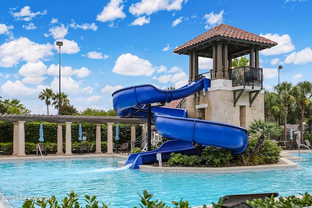
[[[247,130],[239,126],[157,113],[154,119],[157,132],[171,139],[221,147],[234,154],[247,148]]]

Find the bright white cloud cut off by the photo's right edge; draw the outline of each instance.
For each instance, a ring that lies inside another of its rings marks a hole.
[[[284,60],[285,63],[306,64],[312,61],[312,50],[310,47],[299,52],[293,52]]]

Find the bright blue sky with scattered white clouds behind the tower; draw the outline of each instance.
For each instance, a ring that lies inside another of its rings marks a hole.
[[[1,0],[0,96],[47,114],[42,89],[61,92],[81,112],[113,109],[112,93],[188,82],[189,57],[173,50],[226,23],[278,43],[260,52],[265,88],[311,80],[311,0]],[[212,60],[199,59],[199,73]],[[54,106],[50,114],[57,114]]]

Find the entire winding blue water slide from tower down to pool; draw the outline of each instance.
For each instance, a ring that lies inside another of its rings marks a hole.
[[[153,85],[132,86],[113,93],[113,106],[121,117],[146,119],[149,104],[171,102],[201,90],[208,91],[208,87],[209,79],[194,81],[176,90],[159,90]],[[161,153],[162,159],[168,159],[171,152],[196,154],[193,143],[229,149],[234,154],[245,151],[247,147],[248,133],[239,126],[187,118],[184,109],[154,107],[151,111],[157,132],[173,140],[154,151],[130,154],[125,165],[132,164],[133,169],[155,163],[157,153]]]

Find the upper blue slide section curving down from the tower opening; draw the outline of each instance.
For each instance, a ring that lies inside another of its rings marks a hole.
[[[130,117],[145,105],[152,103],[166,103],[177,100],[194,93],[205,90],[210,87],[210,79],[200,79],[176,89],[176,90],[160,90],[154,85],[137,85],[122,88],[113,93],[113,106],[117,115],[121,117]],[[139,117],[140,114],[137,114]]]

